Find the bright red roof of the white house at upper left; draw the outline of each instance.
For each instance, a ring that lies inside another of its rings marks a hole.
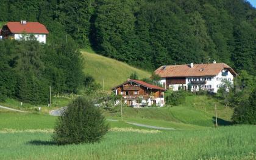
[[[12,33],[40,33],[49,34],[48,30],[43,24],[39,22],[27,22],[21,24],[20,22],[8,22],[7,27]]]

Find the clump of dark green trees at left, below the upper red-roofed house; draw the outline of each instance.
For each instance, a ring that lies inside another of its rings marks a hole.
[[[37,41],[0,41],[0,101],[49,102],[52,94],[77,93],[84,85],[83,62],[72,41],[43,45]]]

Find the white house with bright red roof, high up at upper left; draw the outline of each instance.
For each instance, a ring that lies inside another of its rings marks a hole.
[[[2,27],[1,36],[2,38],[9,39],[25,39],[29,40],[31,38],[37,39],[38,42],[46,44],[46,38],[49,34],[47,28],[40,24],[39,22],[7,22]]]

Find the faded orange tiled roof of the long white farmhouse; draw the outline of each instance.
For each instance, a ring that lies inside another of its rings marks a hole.
[[[157,70],[155,74],[160,77],[192,77],[192,76],[216,76],[224,68],[228,69],[233,76],[236,76],[236,72],[224,63],[212,63],[212,64],[194,64],[193,68],[188,64],[183,65],[163,65]]]

